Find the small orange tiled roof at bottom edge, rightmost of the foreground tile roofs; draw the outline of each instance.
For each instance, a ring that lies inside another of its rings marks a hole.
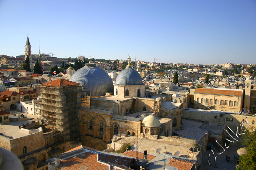
[[[193,167],[194,163],[184,159],[170,159],[168,166],[176,167],[178,170],[189,170]]]

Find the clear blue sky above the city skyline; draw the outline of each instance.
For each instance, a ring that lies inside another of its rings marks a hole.
[[[0,54],[256,63],[256,0],[0,0]]]

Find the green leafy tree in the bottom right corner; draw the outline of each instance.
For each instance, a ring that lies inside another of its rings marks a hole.
[[[240,155],[239,157],[239,168],[243,170],[256,170],[256,130],[247,129],[243,135],[244,147],[247,151],[247,154]]]

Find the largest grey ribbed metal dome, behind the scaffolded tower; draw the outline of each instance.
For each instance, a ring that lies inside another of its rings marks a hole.
[[[86,63],[69,79],[76,83],[86,83],[90,96],[104,96],[106,92],[114,92],[114,85],[108,74],[96,67],[94,63]]]

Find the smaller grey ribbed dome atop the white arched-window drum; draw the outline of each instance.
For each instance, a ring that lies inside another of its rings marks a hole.
[[[142,85],[140,74],[133,70],[131,66],[121,71],[116,77],[116,85]]]

